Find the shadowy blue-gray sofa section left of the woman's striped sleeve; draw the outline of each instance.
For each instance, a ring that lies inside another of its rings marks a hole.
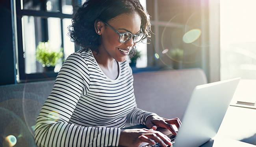
[[[44,81],[0,86],[0,146],[12,146],[7,138],[12,135],[17,139],[14,147],[36,147],[36,118],[53,85]]]

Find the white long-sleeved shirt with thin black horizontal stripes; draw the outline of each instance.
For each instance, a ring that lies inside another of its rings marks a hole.
[[[39,147],[118,146],[120,129],[144,124],[154,113],[137,108],[133,75],[127,61],[109,79],[91,50],[78,51],[64,62],[54,88],[37,118]]]

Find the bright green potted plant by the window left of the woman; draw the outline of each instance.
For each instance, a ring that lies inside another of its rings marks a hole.
[[[42,66],[46,71],[54,70],[56,64],[59,63],[59,59],[63,57],[63,48],[55,50],[51,48],[49,42],[39,42],[35,51],[36,59],[42,63]]]

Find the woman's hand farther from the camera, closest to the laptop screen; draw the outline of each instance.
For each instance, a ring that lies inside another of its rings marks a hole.
[[[149,116],[146,120],[146,126],[148,128],[152,128],[156,130],[157,127],[163,127],[165,129],[170,130],[174,135],[176,135],[176,131],[173,129],[172,125],[176,125],[177,128],[181,127],[181,121],[179,118],[173,119],[165,119],[160,116]]]

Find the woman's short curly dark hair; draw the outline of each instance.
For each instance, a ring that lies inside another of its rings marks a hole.
[[[77,7],[72,25],[69,26],[69,36],[73,42],[82,46],[82,49],[98,52],[101,41],[95,31],[95,22],[110,22],[122,13],[135,12],[141,17],[141,31],[145,34],[143,39],[151,37],[150,18],[139,0],[87,0]]]

